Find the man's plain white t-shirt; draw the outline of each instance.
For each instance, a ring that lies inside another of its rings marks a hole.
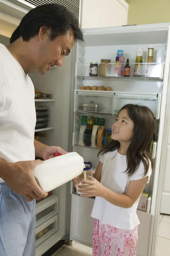
[[[0,44],[0,157],[10,163],[35,160],[34,96],[31,79]]]

